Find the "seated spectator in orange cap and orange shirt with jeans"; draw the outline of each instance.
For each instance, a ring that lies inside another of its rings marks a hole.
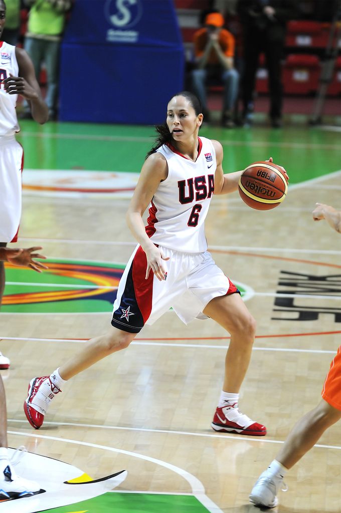
[[[234,127],[232,111],[238,94],[239,73],[233,67],[235,40],[223,29],[224,18],[219,12],[207,14],[205,26],[194,34],[196,69],[192,71],[193,90],[201,101],[204,119],[209,116],[206,83],[217,78],[224,87],[222,125]]]

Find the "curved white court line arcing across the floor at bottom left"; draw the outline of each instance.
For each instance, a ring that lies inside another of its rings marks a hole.
[[[206,496],[206,491],[204,488],[204,485],[199,481],[198,478],[193,476],[190,472],[187,472],[183,468],[177,467],[176,465],[173,465],[172,463],[167,463],[166,461],[158,460],[157,458],[151,458],[150,456],[144,456],[142,454],[139,454],[138,452],[131,452],[128,450],[123,449],[117,449],[116,447],[109,447],[107,445],[99,445],[99,444],[92,444],[90,442],[81,442],[79,440],[70,440],[68,438],[59,438],[59,437],[48,437],[46,435],[35,435],[31,433],[21,433],[18,431],[7,431],[11,435],[18,435],[18,436],[26,436],[26,437],[32,437],[32,438],[42,438],[44,440],[54,440],[56,442],[63,442],[63,443],[70,443],[70,444],[77,444],[77,445],[84,445],[86,447],[93,447],[95,449],[104,449],[106,451],[110,452],[118,452],[119,454],[124,454],[126,456],[132,456],[133,458],[139,458],[140,460],[149,461],[151,463],[155,463],[156,465],[160,465],[162,467],[167,468],[168,470],[171,470],[175,473],[177,473],[179,476],[181,476],[183,479],[187,481],[187,483],[191,486],[192,494],[196,499],[203,505],[205,508],[207,508],[210,513],[223,513],[223,511],[209,498]],[[147,492],[146,492],[147,493]]]

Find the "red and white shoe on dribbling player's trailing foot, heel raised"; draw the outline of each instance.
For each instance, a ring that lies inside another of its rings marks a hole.
[[[28,422],[34,429],[39,429],[44,416],[55,394],[61,392],[50,380],[49,376],[33,378],[28,386],[28,396],[24,402],[24,411]]]

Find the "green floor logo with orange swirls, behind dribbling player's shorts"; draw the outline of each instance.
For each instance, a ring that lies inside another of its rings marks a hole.
[[[6,264],[2,312],[93,313],[111,312],[124,265],[79,260],[45,261],[48,270],[37,273]],[[236,283],[244,300],[253,295]]]

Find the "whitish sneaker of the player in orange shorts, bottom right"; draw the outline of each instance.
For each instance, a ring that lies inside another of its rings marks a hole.
[[[281,488],[282,486],[283,488]],[[283,478],[278,475],[270,475],[268,470],[265,470],[252,488],[249,496],[250,502],[256,506],[274,508],[278,504],[277,493],[279,489],[282,489],[282,491],[288,490]]]

